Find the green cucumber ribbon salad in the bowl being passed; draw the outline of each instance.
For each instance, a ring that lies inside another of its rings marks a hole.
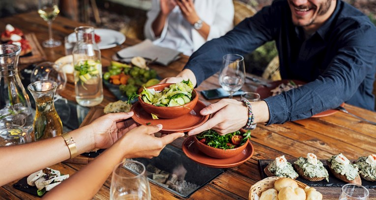
[[[155,91],[154,88],[148,89],[144,87],[140,95],[145,103],[173,107],[190,102],[192,100],[192,91],[193,84],[188,79],[187,81],[183,80],[179,83],[171,84],[163,91]]]

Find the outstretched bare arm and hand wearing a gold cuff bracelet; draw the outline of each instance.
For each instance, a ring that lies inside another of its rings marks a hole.
[[[78,153],[95,148],[109,148],[126,130],[135,127],[127,128],[133,121],[124,121],[132,115],[133,112],[107,114],[89,125],[69,132]],[[117,132],[123,129],[124,131]],[[6,163],[0,165],[0,185],[70,158],[65,140],[60,136],[24,145],[0,147],[0,155],[0,163]]]

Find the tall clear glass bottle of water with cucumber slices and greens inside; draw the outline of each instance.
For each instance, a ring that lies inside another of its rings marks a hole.
[[[103,100],[101,52],[94,40],[94,28],[74,29],[77,43],[73,49],[76,101],[82,106],[98,105]]]

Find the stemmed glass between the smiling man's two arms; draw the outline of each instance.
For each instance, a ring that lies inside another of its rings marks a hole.
[[[223,63],[219,72],[219,84],[229,93],[232,99],[233,93],[238,91],[245,82],[244,58],[238,54],[223,56]]]

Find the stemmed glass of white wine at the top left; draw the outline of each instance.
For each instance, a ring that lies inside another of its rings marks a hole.
[[[60,10],[58,7],[58,0],[39,0],[38,3],[38,14],[44,21],[48,24],[48,35],[49,39],[42,42],[43,47],[58,47],[61,45],[61,42],[55,40],[52,37],[52,21],[55,20],[56,16],[58,16]]]

